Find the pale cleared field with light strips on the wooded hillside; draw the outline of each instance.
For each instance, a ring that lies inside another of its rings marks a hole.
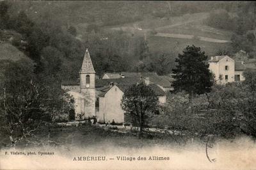
[[[171,19],[151,18],[105,29],[122,30],[137,36],[147,35],[148,46],[153,53],[173,52],[177,55],[187,45],[196,45],[211,56],[230,47],[232,32],[205,26],[204,20],[208,16],[209,13],[193,13]],[[156,34],[150,35],[150,31],[156,31]]]

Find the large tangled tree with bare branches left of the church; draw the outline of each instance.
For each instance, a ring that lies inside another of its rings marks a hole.
[[[42,121],[51,122],[56,114],[72,109],[60,85],[56,88],[38,80],[30,60],[10,61],[3,74],[3,84],[0,84],[0,110],[3,112],[0,116],[12,146],[22,139],[29,143],[28,137],[33,136]]]

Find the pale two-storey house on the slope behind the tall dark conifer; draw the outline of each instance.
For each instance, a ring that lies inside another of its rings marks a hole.
[[[209,70],[214,73],[217,84],[244,81],[243,71],[246,66],[243,61],[234,61],[228,56],[214,56],[208,63]]]

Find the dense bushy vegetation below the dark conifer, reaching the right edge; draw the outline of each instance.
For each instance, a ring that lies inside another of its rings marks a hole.
[[[197,95],[191,109],[186,93],[169,94],[162,107],[164,114],[152,119],[151,126],[179,130],[191,137],[256,137],[256,72],[246,70],[244,76],[244,82],[214,85],[210,93]]]

